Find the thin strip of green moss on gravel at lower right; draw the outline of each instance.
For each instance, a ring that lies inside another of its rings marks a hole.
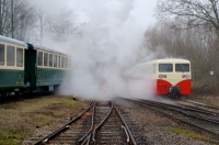
[[[209,142],[209,143],[212,143],[212,144],[216,143],[215,141],[210,140],[209,137],[207,137],[205,135],[197,134],[195,132],[192,132],[192,131],[188,131],[188,130],[184,130],[182,127],[172,127],[172,129],[170,129],[170,132],[176,133],[176,134],[182,134],[184,136],[188,136],[188,137],[192,137],[192,138],[195,138],[195,140]]]

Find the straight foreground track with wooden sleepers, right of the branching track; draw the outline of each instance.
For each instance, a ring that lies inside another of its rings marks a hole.
[[[115,103],[112,102],[107,115],[93,131],[92,144],[108,145],[127,143],[137,144],[125,119],[120,115]]]

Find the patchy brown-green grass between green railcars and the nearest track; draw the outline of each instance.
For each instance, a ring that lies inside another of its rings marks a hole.
[[[0,145],[19,145],[36,126],[47,126],[72,116],[83,105],[71,97],[47,96],[0,105]]]

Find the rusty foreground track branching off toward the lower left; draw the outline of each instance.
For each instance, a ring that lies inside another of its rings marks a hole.
[[[58,130],[48,133],[48,135],[43,138],[32,137],[28,141],[25,141],[24,144],[78,144],[78,141],[83,136],[84,132],[88,132],[88,129],[91,125],[94,107],[95,103],[92,102],[85,111],[76,119],[64,124]]]

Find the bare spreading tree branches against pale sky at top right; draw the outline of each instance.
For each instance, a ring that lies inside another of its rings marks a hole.
[[[214,29],[219,36],[219,0],[159,0],[158,18],[162,21],[177,20],[174,29],[191,29],[204,25]]]

